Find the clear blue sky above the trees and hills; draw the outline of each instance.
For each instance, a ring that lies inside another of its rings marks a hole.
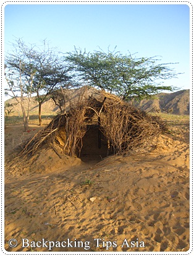
[[[190,8],[186,4],[7,4],[4,7],[5,51],[22,38],[47,39],[62,52],[77,48],[137,57],[161,56],[161,63],[184,72],[166,85],[190,88]]]

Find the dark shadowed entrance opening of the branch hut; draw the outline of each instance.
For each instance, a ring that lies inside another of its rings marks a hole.
[[[107,156],[108,140],[102,133],[99,135],[98,125],[88,126],[88,130],[82,138],[82,145],[80,159],[83,162],[98,162]]]

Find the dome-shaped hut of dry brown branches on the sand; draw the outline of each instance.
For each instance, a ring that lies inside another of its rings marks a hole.
[[[151,116],[117,96],[100,92],[98,96],[79,101],[68,113],[59,114],[25,142],[22,154],[33,155],[43,145],[57,145],[65,155],[79,156],[83,137],[91,126],[106,137],[108,150],[120,154],[151,142],[166,130],[159,117]],[[95,143],[95,142],[94,142]]]

